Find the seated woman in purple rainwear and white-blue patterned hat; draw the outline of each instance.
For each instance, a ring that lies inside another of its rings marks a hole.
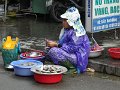
[[[51,47],[48,55],[54,64],[66,65],[69,62],[77,73],[82,73],[86,71],[88,64],[90,42],[81,23],[79,11],[71,7],[61,15],[61,18],[64,30],[60,33],[58,43],[47,41],[47,45]]]

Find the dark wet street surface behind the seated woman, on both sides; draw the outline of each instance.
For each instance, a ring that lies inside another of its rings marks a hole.
[[[40,16],[37,20],[34,17],[26,17],[8,19],[5,23],[0,22],[0,39],[7,35],[18,36],[21,47],[26,49],[43,49],[45,38],[58,40],[61,23],[44,16]],[[98,44],[105,48],[117,47],[120,45],[120,29],[116,31],[117,39],[114,30],[95,33],[93,36]],[[91,38],[90,33],[88,36]]]

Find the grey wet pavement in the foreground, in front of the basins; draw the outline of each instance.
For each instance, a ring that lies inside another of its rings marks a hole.
[[[0,53],[1,54],[1,53]],[[2,59],[0,55],[0,60]],[[0,90],[119,90],[120,78],[103,73],[85,72],[80,75],[63,75],[56,84],[40,84],[34,77],[16,76],[3,68],[0,62]]]

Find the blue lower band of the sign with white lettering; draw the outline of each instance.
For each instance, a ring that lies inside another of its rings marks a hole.
[[[115,28],[120,28],[120,15],[93,19],[93,32],[100,32]]]

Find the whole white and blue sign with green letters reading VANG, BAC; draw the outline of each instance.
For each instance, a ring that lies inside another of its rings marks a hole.
[[[86,30],[100,32],[120,28],[120,0],[86,0]]]

